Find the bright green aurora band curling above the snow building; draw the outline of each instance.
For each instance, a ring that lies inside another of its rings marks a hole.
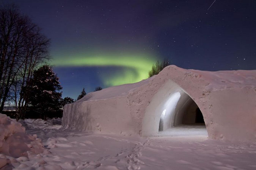
[[[56,57],[54,66],[114,66],[121,67],[116,73],[100,73],[99,78],[105,86],[135,83],[148,78],[148,71],[156,59],[150,55],[93,55],[78,54],[73,57]]]

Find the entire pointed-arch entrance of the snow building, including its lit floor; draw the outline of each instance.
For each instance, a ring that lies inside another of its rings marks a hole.
[[[142,136],[208,135],[201,110],[171,80],[152,98],[142,124]]]

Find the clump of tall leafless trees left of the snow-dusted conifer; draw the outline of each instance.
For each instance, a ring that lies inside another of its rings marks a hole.
[[[0,112],[7,99],[24,115],[33,71],[49,59],[49,39],[15,5],[0,7]]]

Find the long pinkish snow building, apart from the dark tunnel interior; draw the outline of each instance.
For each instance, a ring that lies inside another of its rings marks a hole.
[[[256,70],[199,71],[171,65],[138,83],[87,94],[65,105],[66,129],[154,136],[181,124],[192,102],[200,108],[209,139],[256,141]]]

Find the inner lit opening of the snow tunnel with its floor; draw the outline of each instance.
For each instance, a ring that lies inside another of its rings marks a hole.
[[[207,135],[201,110],[184,91],[172,94],[166,101],[159,121],[159,135]]]

